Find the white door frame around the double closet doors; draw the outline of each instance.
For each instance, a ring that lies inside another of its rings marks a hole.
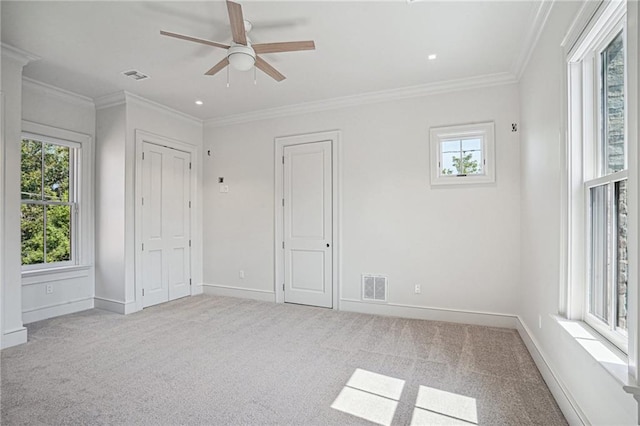
[[[193,296],[198,294],[197,281],[194,282],[193,278],[198,275],[198,259],[199,253],[197,247],[200,247],[200,241],[198,235],[201,235],[200,225],[197,221],[197,210],[200,205],[197,197],[197,183],[198,183],[198,148],[195,145],[182,142],[176,139],[171,139],[166,136],[156,135],[146,130],[135,129],[136,139],[136,167],[135,167],[135,204],[134,204],[134,234],[135,234],[135,282],[134,282],[134,294],[136,311],[143,309],[142,304],[142,146],[144,142],[152,143],[166,148],[175,149],[178,151],[189,153],[191,158],[191,177],[189,182],[189,198],[191,200],[191,212],[190,212],[190,229],[189,238],[191,239],[191,252],[189,254],[189,268],[191,275],[191,293]],[[197,240],[197,241],[196,241]]]

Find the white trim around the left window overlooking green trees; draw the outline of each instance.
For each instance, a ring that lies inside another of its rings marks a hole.
[[[71,229],[71,261],[21,265],[22,276],[47,273],[47,271],[55,272],[61,269],[87,267],[93,262],[91,253],[88,252],[92,227],[91,218],[89,217],[92,210],[90,204],[92,199],[90,187],[93,181],[93,176],[90,175],[92,137],[84,133],[23,120],[21,138],[24,136],[76,150],[74,156],[75,176],[73,180],[77,209],[75,209],[75,224],[72,221]],[[22,205],[22,199],[20,199],[20,205]]]

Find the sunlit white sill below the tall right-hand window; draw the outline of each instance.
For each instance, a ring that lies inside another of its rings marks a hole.
[[[620,349],[583,321],[568,320],[559,315],[551,317],[620,385],[636,386],[635,379],[629,375],[629,358]]]

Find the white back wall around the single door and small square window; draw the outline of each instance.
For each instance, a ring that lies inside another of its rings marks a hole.
[[[496,183],[431,188],[429,127],[487,120],[496,123]],[[517,121],[517,86],[505,85],[205,124],[204,151],[212,156],[204,157],[204,282],[211,292],[223,293],[222,286],[241,289],[232,292],[238,295],[273,292],[274,138],[339,129],[342,307],[380,312],[380,305],[360,304],[361,274],[376,273],[389,277],[388,309],[515,313],[520,148],[511,123]],[[218,192],[219,176],[229,193]]]

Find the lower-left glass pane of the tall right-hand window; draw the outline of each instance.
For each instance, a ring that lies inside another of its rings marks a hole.
[[[602,185],[590,190],[589,312],[608,324],[607,216],[609,209],[607,208],[607,189],[607,185]]]

